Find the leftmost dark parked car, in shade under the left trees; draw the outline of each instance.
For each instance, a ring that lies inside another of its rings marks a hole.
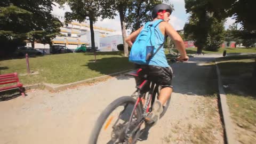
[[[24,57],[26,53],[28,55],[43,55],[43,51],[36,50],[33,47],[27,46],[18,47],[17,50],[14,52],[14,55]]]

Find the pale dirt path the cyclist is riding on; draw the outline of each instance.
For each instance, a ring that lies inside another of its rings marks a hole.
[[[171,106],[138,143],[223,143],[212,58],[175,63]],[[206,65],[206,64],[207,65]],[[58,93],[31,91],[0,102],[0,143],[87,143],[95,119],[113,100],[130,95],[134,79],[119,76]]]

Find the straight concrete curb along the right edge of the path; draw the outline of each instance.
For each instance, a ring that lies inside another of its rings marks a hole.
[[[231,122],[229,108],[228,108],[227,99],[226,99],[227,97],[226,97],[226,93],[225,93],[225,91],[222,87],[220,70],[219,70],[219,67],[218,67],[217,64],[218,63],[215,59],[215,66],[216,66],[217,76],[218,76],[218,87],[219,87],[219,98],[220,98],[220,104],[221,104],[221,114],[222,114],[222,117],[223,117],[226,141],[227,141],[228,144],[234,144],[234,143],[237,143],[237,141],[235,140],[234,126],[233,126],[233,123]]]

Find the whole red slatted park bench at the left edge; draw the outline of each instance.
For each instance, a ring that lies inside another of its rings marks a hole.
[[[22,97],[25,97],[25,93],[22,87],[23,85],[19,82],[17,73],[0,75],[0,85],[12,84],[12,83],[14,83],[14,85],[0,87],[0,92],[19,88],[19,91]]]

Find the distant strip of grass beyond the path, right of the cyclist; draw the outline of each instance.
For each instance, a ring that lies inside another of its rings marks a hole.
[[[253,47],[253,48],[226,48],[226,49],[220,48],[217,52],[203,50],[203,53],[204,54],[211,54],[211,53],[222,54],[224,50],[227,50],[227,53],[256,53],[256,47]],[[174,51],[176,52],[176,50],[174,50]],[[188,49],[186,49],[186,51],[188,54],[196,54],[197,48],[188,48]]]

